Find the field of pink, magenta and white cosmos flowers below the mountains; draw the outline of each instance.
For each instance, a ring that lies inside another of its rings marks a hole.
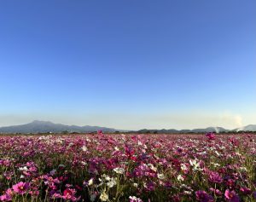
[[[0,201],[256,201],[256,136],[0,136]]]

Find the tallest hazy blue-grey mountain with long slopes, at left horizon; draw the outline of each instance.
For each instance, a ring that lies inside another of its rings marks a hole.
[[[0,133],[44,133],[53,132],[60,133],[62,131],[68,132],[95,132],[102,130],[103,132],[114,132],[115,129],[100,127],[100,126],[77,126],[77,125],[65,125],[65,124],[54,124],[49,121],[38,121],[35,120],[29,124],[20,124],[7,127],[0,127]]]

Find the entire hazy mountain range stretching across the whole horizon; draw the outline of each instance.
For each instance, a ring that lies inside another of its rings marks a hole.
[[[20,124],[20,125],[12,125],[0,127],[0,133],[61,133],[63,131],[67,132],[79,132],[79,133],[89,133],[95,132],[97,130],[102,130],[106,133],[112,133],[115,131],[119,132],[137,132],[137,133],[203,133],[203,132],[232,132],[232,131],[256,131],[256,124],[249,124],[247,126],[237,128],[234,130],[226,130],[222,127],[208,127],[205,129],[194,129],[194,130],[137,130],[137,131],[129,131],[129,130],[116,130],[113,128],[101,127],[101,126],[78,126],[78,125],[66,125],[66,124],[54,124],[49,121],[32,121],[29,124]]]

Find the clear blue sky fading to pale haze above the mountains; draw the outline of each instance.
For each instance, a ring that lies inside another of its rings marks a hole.
[[[0,126],[256,124],[256,1],[0,1]]]

